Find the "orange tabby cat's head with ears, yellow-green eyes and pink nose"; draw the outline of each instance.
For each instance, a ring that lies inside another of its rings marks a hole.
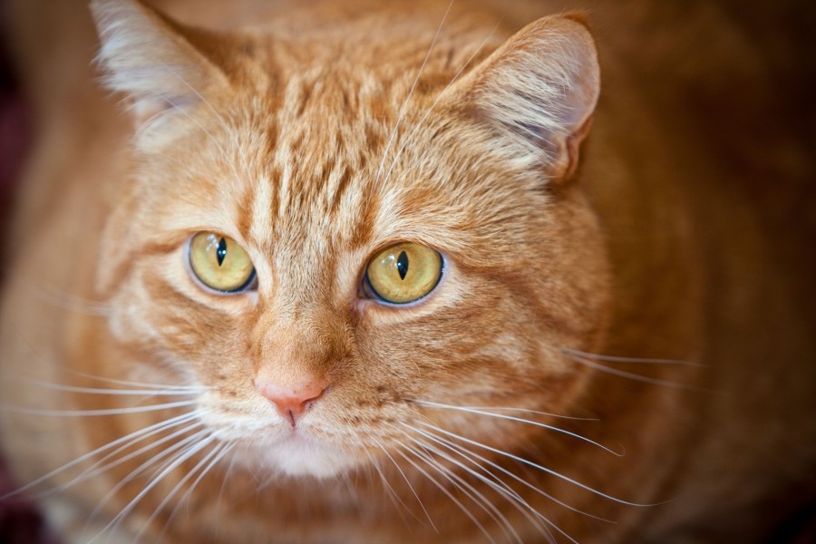
[[[434,38],[418,14],[212,34],[92,9],[135,127],[99,268],[131,363],[106,364],[201,386],[209,430],[289,474],[423,425],[526,438],[441,404],[574,402],[562,350],[597,345],[609,300],[575,179],[598,92],[578,17],[501,43],[455,14]]]

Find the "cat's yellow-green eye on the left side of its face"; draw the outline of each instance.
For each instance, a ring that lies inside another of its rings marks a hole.
[[[189,240],[189,267],[202,284],[222,293],[243,291],[255,279],[244,248],[213,232],[199,232]]]

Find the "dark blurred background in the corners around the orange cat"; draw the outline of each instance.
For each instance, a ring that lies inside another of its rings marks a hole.
[[[17,76],[20,66],[7,43],[7,4],[0,0],[0,234],[12,214],[26,150],[36,137],[35,115],[26,108]],[[804,261],[801,269],[811,273],[797,277],[801,285],[795,288],[801,293],[802,308],[811,308],[802,311],[802,318],[810,319],[816,308],[816,2],[654,0],[653,5],[633,7],[621,27],[624,33],[644,36],[642,41],[629,39],[628,47],[652,50],[633,55],[639,63],[628,68],[646,91],[655,73],[664,78],[655,92],[669,78],[675,92],[657,100],[683,112],[685,122],[733,174],[729,182],[739,184],[733,189],[756,203],[763,228],[779,240],[777,253],[769,257],[796,262],[797,267]],[[695,16],[687,17],[690,14]],[[694,23],[686,24],[687,20]],[[685,41],[662,39],[678,26],[685,28]],[[606,37],[616,39],[614,32]],[[711,51],[703,64],[701,48]],[[0,240],[2,257],[5,236]],[[816,323],[810,330],[816,335]],[[816,366],[816,361],[812,364]],[[0,496],[19,483],[12,481],[0,460]],[[795,492],[792,503],[801,506],[781,517],[776,532],[765,539],[769,544],[816,542],[816,490]],[[0,501],[0,544],[46,542],[53,540],[30,502]]]

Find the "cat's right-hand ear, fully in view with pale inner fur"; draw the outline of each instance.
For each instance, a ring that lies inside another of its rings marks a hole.
[[[581,15],[539,19],[461,82],[466,112],[487,123],[494,151],[568,179],[600,88],[597,52]]]

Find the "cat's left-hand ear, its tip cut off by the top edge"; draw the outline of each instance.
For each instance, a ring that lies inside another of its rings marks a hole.
[[[92,0],[91,11],[102,43],[98,61],[104,82],[128,96],[137,123],[188,108],[203,100],[207,89],[227,84],[195,39],[203,33],[138,0]]]

